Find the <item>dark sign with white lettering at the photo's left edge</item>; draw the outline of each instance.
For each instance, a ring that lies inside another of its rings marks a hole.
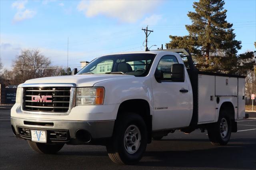
[[[16,90],[9,88],[1,88],[0,104],[14,104],[16,101]]]

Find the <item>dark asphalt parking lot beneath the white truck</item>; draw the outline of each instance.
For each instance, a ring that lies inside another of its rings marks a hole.
[[[13,136],[10,110],[0,110],[0,169],[256,169],[256,119],[239,121],[227,146],[212,146],[207,130],[176,131],[126,166],[111,162],[104,146],[65,145],[56,155],[38,154]]]

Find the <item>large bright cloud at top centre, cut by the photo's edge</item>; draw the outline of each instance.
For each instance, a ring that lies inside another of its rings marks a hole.
[[[141,19],[146,13],[150,13],[159,1],[80,1],[78,11],[84,12],[86,17],[106,15],[117,18],[121,22],[134,23]]]

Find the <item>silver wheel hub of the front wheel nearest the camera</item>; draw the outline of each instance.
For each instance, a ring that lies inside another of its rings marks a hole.
[[[136,125],[130,125],[124,133],[124,147],[129,154],[134,154],[140,147],[141,134]]]

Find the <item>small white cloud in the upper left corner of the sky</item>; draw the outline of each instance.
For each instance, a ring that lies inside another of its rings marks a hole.
[[[14,15],[13,22],[19,22],[29,18],[33,18],[36,15],[36,11],[29,10],[25,8],[25,4],[28,1],[15,1],[12,3],[12,8],[16,8],[17,12]]]

